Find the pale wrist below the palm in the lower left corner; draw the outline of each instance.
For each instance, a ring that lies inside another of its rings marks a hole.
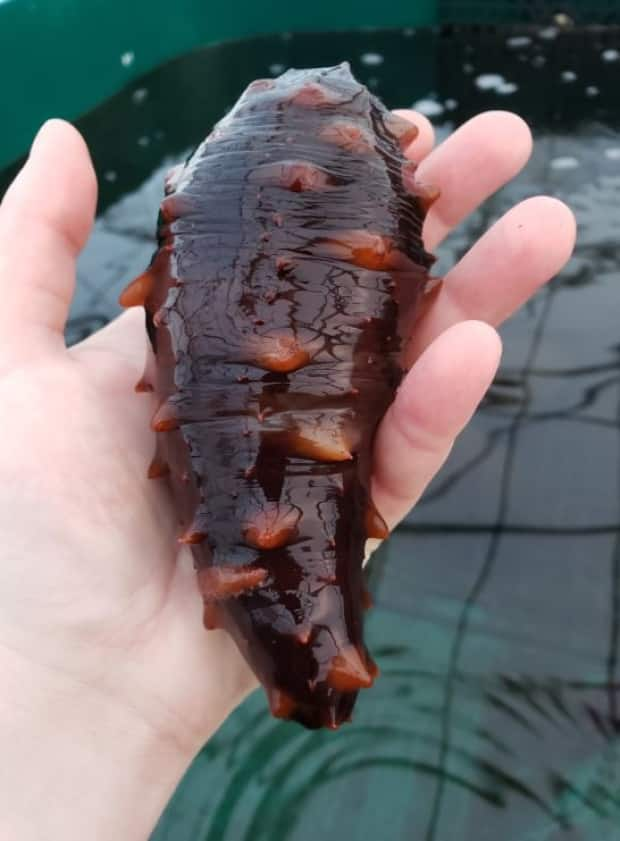
[[[74,678],[0,669],[0,838],[147,839],[193,749]]]

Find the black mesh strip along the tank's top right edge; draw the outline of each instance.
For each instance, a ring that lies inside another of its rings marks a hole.
[[[440,0],[444,23],[620,23],[618,0]]]

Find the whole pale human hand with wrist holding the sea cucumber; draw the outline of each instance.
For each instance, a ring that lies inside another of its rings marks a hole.
[[[517,117],[489,113],[431,152],[430,124],[412,119],[418,178],[442,191],[425,226],[432,250],[520,170],[531,140]],[[64,345],[95,195],[83,141],[54,121],[0,206],[0,727],[11,768],[0,836],[20,841],[144,837],[195,751],[254,686],[231,640],[203,630],[167,490],[146,478],[155,407],[133,391],[141,313]],[[489,325],[557,273],[574,235],[565,206],[529,199],[448,273],[376,440],[373,497],[391,526],[492,380],[500,341]]]

